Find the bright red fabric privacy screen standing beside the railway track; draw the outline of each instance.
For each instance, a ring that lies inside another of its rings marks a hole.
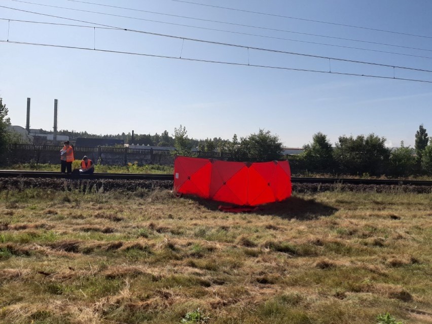
[[[174,190],[240,206],[281,201],[291,196],[290,164],[179,156],[174,161]]]

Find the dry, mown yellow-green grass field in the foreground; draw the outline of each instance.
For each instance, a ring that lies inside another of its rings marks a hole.
[[[432,322],[431,194],[217,207],[169,191],[0,192],[0,322]]]

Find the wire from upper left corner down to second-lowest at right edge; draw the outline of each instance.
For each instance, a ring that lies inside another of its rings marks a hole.
[[[93,23],[93,22],[89,22],[89,21],[85,21],[85,20],[77,20],[77,19],[73,19],[73,18],[54,16],[54,15],[49,15],[49,14],[43,14],[43,13],[37,13],[37,12],[22,10],[22,9],[16,9],[16,8],[9,8],[9,7],[5,7],[5,6],[0,6],[0,8],[8,8],[8,9],[18,10],[18,11],[23,11],[23,12],[33,13],[33,14],[38,14],[38,15],[43,15],[43,16],[49,16],[49,17],[66,19],[66,20],[79,21],[79,22],[85,22],[85,23],[89,23],[89,24],[100,25],[100,26],[103,26],[103,27],[111,27],[111,28],[114,28],[114,29],[117,29],[117,30],[131,31],[131,32],[143,33],[143,34],[148,34],[148,35],[154,35],[154,36],[160,36],[160,37],[166,37],[166,38],[172,38],[172,39],[178,39],[178,40],[184,40],[184,41],[192,41],[192,42],[199,42],[199,43],[206,43],[206,44],[213,44],[213,45],[222,45],[222,46],[243,48],[243,49],[247,49],[247,50],[257,50],[257,51],[273,52],[273,53],[280,53],[280,54],[298,55],[298,56],[304,56],[304,57],[321,58],[321,59],[326,59],[326,60],[334,60],[334,61],[349,62],[349,63],[359,63],[359,64],[367,64],[367,65],[383,66],[383,67],[391,67],[391,68],[400,68],[400,69],[406,69],[406,70],[422,71],[422,72],[432,73],[432,70],[420,69],[420,68],[414,68],[414,67],[407,67],[407,66],[400,66],[400,65],[390,65],[390,64],[374,63],[374,62],[367,62],[367,61],[358,61],[358,60],[349,60],[349,59],[344,59],[344,58],[336,58],[336,57],[313,55],[313,54],[304,54],[304,53],[297,53],[297,52],[272,50],[272,49],[266,49],[266,48],[260,48],[260,47],[252,47],[252,46],[230,44],[230,43],[222,43],[222,42],[213,42],[213,41],[206,41],[206,40],[200,40],[200,39],[180,37],[180,36],[174,36],[174,35],[168,35],[168,34],[162,34],[162,33],[150,32],[150,31],[121,28],[121,27],[116,27],[116,26],[110,26],[110,25],[104,25],[104,24],[99,24],[99,23]],[[93,27],[93,28],[96,28],[96,27]]]

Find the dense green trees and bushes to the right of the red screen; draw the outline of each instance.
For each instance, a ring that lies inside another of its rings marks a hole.
[[[432,140],[423,125],[415,135],[415,148],[389,149],[386,138],[375,134],[340,136],[333,147],[327,135],[318,132],[304,146],[300,166],[314,172],[371,175],[432,173]]]

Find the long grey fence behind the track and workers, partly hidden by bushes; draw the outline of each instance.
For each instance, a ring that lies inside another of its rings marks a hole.
[[[63,146],[56,145],[27,145],[11,144],[8,146],[6,161],[10,164],[15,163],[60,163],[60,150]],[[74,147],[75,159],[82,159],[87,156],[95,163],[101,161],[105,165],[127,165],[127,163],[138,162],[143,164],[162,164],[169,165],[174,163],[174,152],[169,150],[151,149],[129,149],[113,147]],[[236,156],[232,153],[225,152],[192,152],[194,157],[232,161]],[[253,161],[254,156],[248,155],[242,157],[244,161]],[[296,156],[280,156],[280,160],[289,160],[294,162],[298,160]]]

